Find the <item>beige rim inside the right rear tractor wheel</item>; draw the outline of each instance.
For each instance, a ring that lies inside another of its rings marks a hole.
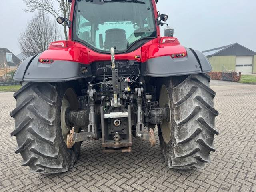
[[[159,106],[166,107],[166,105],[169,106],[169,110],[170,110],[171,109],[170,96],[169,96],[167,87],[165,85],[162,85],[160,90]],[[170,138],[171,138],[171,130],[172,130],[171,115],[170,115],[170,119],[163,120],[163,124],[160,127],[161,127],[161,132],[162,132],[162,137],[164,139],[164,142],[167,144],[170,142]]]

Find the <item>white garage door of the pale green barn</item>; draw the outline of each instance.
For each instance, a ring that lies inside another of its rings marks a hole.
[[[236,71],[242,74],[251,74],[252,56],[236,56]]]

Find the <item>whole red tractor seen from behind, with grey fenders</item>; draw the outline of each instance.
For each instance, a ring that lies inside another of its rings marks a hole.
[[[199,51],[181,46],[157,0],[69,0],[69,40],[19,66],[15,130],[22,166],[57,173],[72,168],[82,141],[130,152],[132,137],[154,146],[170,168],[200,168],[214,149],[212,71]]]

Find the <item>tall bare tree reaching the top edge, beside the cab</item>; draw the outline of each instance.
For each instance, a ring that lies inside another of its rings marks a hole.
[[[68,0],[23,0],[28,8],[26,12],[34,12],[36,10],[44,11],[46,14],[50,13],[54,18],[70,16],[70,3]],[[56,8],[56,3],[58,8]],[[64,34],[66,40],[68,40],[68,30],[66,22],[62,24],[64,27]]]

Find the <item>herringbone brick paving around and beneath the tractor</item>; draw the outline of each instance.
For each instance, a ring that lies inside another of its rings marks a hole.
[[[30,173],[14,154],[10,137],[15,106],[12,93],[0,94],[0,191],[220,191],[256,192],[256,85],[212,81],[220,112],[216,152],[203,169],[178,171],[155,148],[134,140],[129,154],[102,153],[101,140],[84,142],[74,168],[63,174]]]

